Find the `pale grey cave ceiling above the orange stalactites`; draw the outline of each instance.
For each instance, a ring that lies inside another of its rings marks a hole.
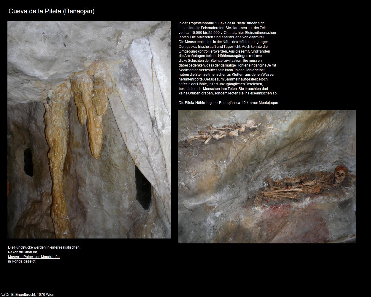
[[[8,104],[43,101],[94,61],[119,57],[159,21],[8,22]]]

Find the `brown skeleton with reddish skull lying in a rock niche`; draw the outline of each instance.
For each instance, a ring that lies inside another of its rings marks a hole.
[[[298,196],[329,190],[331,187],[342,183],[347,176],[347,172],[346,167],[338,166],[335,168],[334,173],[315,172],[298,177],[284,177],[283,182],[279,179],[273,182],[272,179],[266,177],[269,187],[258,191],[255,196],[255,204],[262,204],[263,198],[266,201],[268,199],[271,201],[283,198],[298,200]]]

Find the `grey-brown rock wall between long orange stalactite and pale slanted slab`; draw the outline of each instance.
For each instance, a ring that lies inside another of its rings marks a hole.
[[[110,105],[103,117],[101,156],[89,147],[86,124],[81,126],[74,103],[69,106],[69,146],[64,192],[76,238],[126,238],[144,212],[136,200],[135,167],[121,138]]]

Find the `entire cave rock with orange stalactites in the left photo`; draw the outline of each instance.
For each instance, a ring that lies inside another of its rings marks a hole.
[[[169,32],[170,22],[8,22],[8,237],[170,238]],[[135,165],[152,186],[148,210]]]

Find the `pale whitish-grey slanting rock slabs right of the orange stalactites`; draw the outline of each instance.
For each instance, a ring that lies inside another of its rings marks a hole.
[[[165,22],[150,37],[133,41],[128,55],[113,66],[115,91],[109,96],[122,138],[135,164],[155,190],[152,195],[155,203],[131,233],[168,238],[171,226],[169,30],[170,23]],[[165,57],[166,62],[159,56]],[[158,217],[157,228],[139,230],[138,226],[148,225],[151,216]]]

